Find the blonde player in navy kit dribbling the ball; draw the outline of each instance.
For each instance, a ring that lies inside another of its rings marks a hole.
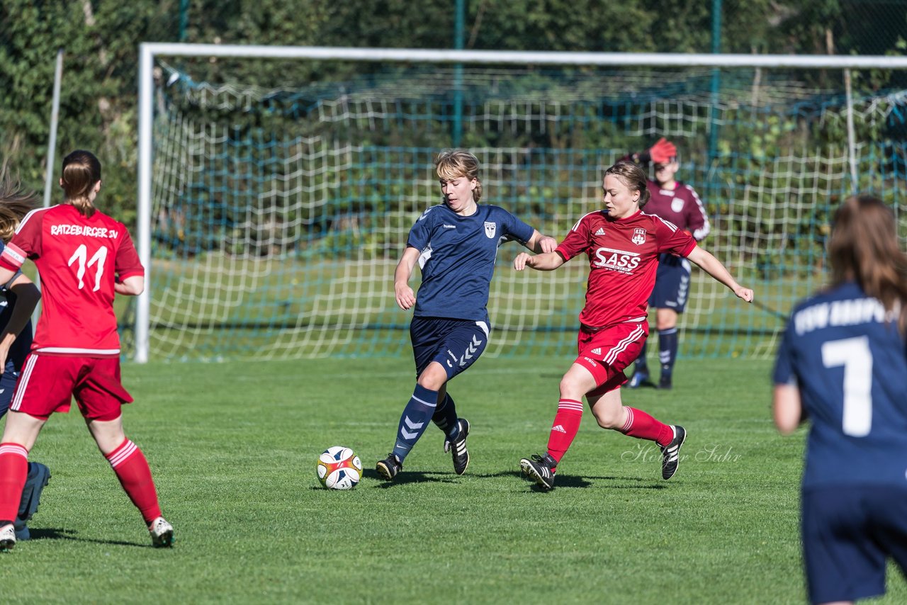
[[[430,420],[444,431],[444,451],[453,455],[454,473],[465,473],[470,424],[457,415],[447,383],[488,346],[488,295],[498,248],[515,239],[535,252],[550,252],[558,243],[507,210],[478,203],[479,161],[469,151],[442,151],[435,170],[443,203],[415,221],[394,273],[397,305],[415,307],[409,333],[417,378],[400,415],[394,451],[375,465],[387,481],[399,473]],[[416,262],[422,269],[418,297],[409,287]]]

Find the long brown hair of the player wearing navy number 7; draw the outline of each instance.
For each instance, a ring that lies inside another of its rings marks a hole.
[[[898,327],[907,333],[907,254],[898,244],[894,213],[882,200],[854,195],[834,213],[828,257],[834,286],[852,280],[878,298],[885,310],[900,307]]]

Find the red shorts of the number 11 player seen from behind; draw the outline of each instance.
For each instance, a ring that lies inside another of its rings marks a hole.
[[[47,420],[54,412],[69,412],[72,396],[89,420],[116,420],[120,406],[132,396],[120,383],[119,357],[25,357],[9,408]]]

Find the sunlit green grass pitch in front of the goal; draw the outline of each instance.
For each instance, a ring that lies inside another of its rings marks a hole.
[[[138,512],[77,415],[31,458],[53,478],[33,540],[0,556],[3,602],[798,603],[804,434],[768,410],[770,365],[680,360],[675,388],[625,403],[684,424],[678,475],[590,414],[541,493],[541,452],[569,359],[483,359],[453,381],[473,424],[453,474],[431,427],[395,483],[376,478],[414,382],[409,358],[124,366],[127,434],[151,463],[172,550]],[[351,492],[317,483],[317,454],[356,449]],[[893,568],[881,602],[907,602]]]

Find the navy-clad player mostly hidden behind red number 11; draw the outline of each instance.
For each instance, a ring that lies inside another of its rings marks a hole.
[[[13,238],[15,228],[34,207],[34,197],[21,189],[3,170],[0,171],[0,252]],[[25,357],[32,346],[31,315],[41,293],[22,271],[0,284],[0,417],[6,415],[13,401],[15,383],[22,371]],[[28,540],[30,532],[26,522],[38,510],[41,493],[50,479],[50,470],[40,463],[28,463],[28,474],[19,501],[19,512],[14,520],[15,539]]]

